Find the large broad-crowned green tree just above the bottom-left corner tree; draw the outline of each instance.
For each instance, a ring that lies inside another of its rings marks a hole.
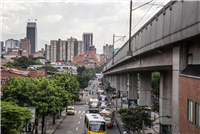
[[[57,89],[47,78],[12,77],[3,90],[3,99],[22,107],[36,107],[36,125],[40,115],[54,115],[63,106]]]

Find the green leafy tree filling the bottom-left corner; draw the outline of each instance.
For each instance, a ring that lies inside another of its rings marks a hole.
[[[24,126],[32,119],[27,108],[19,107],[10,102],[0,101],[0,128],[6,134],[20,134]]]

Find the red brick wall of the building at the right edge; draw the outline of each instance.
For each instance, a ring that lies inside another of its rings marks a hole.
[[[179,77],[179,132],[181,134],[199,134],[195,127],[195,101],[200,102],[200,78]],[[193,100],[193,124],[187,121],[187,99]],[[178,114],[178,113],[177,113]]]

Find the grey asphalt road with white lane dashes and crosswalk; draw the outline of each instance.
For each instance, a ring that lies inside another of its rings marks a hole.
[[[90,87],[95,88],[93,90],[93,95],[89,92],[83,91],[83,97],[81,100],[89,101],[90,98],[97,98],[96,88],[97,80],[95,80]],[[54,134],[84,134],[84,117],[85,113],[89,113],[88,105],[74,105],[75,115],[67,115],[60,126],[56,129]],[[120,134],[116,124],[114,123],[112,128],[107,129],[107,134]]]

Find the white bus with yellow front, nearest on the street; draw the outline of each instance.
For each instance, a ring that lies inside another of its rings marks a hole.
[[[84,120],[85,134],[106,134],[105,120],[99,114],[86,114]]]

